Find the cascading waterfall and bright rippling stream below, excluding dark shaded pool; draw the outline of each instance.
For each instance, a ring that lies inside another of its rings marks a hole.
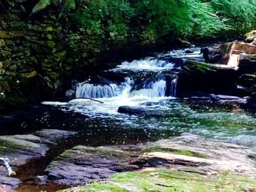
[[[203,61],[200,49],[195,48],[192,53],[174,50],[154,58],[123,62],[115,69],[106,71],[105,76],[97,77],[98,82],[89,79],[78,83],[75,90],[78,99],[69,102],[45,101],[43,104],[85,115],[91,120],[91,128],[97,129],[100,124],[127,132],[142,130],[147,135],[146,141],[191,132],[256,146],[254,115],[233,104],[196,103],[176,98],[177,71],[181,69],[182,61],[187,59]],[[111,78],[106,79],[108,77]],[[118,107],[121,106],[142,112],[139,115],[119,113]],[[145,138],[138,135],[137,140],[145,141]]]

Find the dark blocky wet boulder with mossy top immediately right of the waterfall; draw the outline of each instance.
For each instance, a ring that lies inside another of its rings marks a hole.
[[[219,93],[236,95],[239,74],[234,69],[213,64],[187,61],[178,74],[176,96],[201,96],[197,93]],[[229,78],[227,78],[229,77]]]

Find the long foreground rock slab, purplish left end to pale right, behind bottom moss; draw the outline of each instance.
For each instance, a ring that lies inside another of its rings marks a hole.
[[[165,167],[208,175],[231,172],[256,176],[255,153],[248,147],[182,134],[147,145],[85,147],[66,150],[45,169],[42,182],[69,186],[105,180],[116,172]]]

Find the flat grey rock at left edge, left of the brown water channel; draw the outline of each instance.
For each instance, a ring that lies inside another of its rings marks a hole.
[[[15,171],[18,166],[26,164],[32,158],[44,156],[50,146],[56,145],[58,140],[71,137],[75,132],[45,129],[33,134],[0,136],[0,156],[10,159],[10,166]],[[17,178],[5,177],[7,170],[0,169],[0,185],[15,187],[20,183]]]

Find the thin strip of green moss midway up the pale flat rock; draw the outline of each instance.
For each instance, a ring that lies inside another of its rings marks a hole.
[[[207,158],[207,155],[203,153],[198,153],[190,150],[177,150],[173,148],[164,148],[159,146],[147,147],[146,149],[143,150],[143,153],[151,153],[151,152],[171,152],[177,155],[187,155],[187,156],[193,156],[197,158]]]

